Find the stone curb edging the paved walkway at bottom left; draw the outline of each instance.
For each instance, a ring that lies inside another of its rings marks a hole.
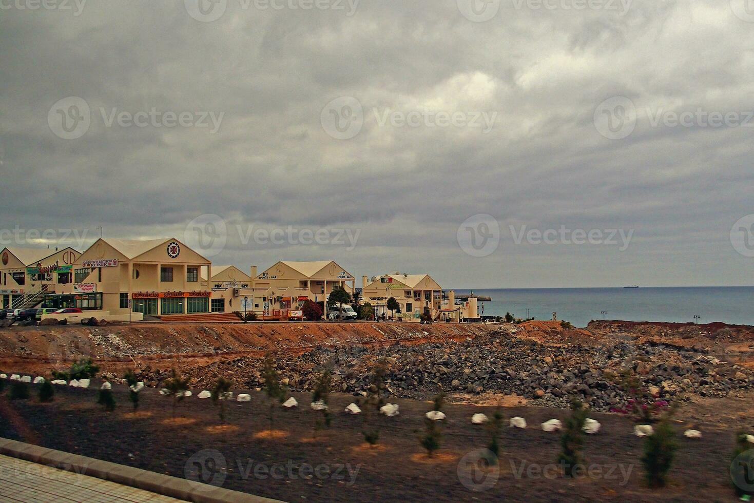
[[[0,454],[60,470],[72,471],[75,474],[87,477],[109,480],[123,486],[155,492],[170,498],[193,501],[193,503],[282,503],[279,500],[231,491],[222,487],[170,477],[141,468],[100,461],[83,455],[47,449],[46,447],[2,437],[0,437]]]

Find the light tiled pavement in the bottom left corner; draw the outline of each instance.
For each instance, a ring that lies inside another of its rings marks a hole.
[[[181,500],[0,455],[0,501],[169,503]]]

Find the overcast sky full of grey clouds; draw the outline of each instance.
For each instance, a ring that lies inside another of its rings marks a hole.
[[[0,0],[2,244],[754,284],[745,0],[269,2]]]

